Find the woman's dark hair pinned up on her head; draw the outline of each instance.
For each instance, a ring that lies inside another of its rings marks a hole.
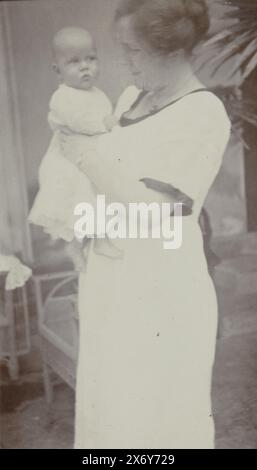
[[[136,34],[163,54],[191,52],[210,25],[205,0],[122,0],[116,21],[129,15]]]

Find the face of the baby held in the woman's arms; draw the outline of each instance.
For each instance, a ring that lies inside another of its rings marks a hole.
[[[76,41],[66,41],[57,51],[56,69],[66,85],[81,90],[92,88],[99,71],[92,39],[78,36]]]

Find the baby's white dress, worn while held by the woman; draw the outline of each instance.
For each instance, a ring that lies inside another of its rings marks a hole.
[[[95,203],[94,191],[86,175],[62,155],[59,129],[66,126],[71,132],[88,136],[90,150],[95,146],[97,136],[107,132],[104,118],[111,114],[110,100],[96,87],[79,90],[62,84],[52,96],[48,121],[54,135],[39,168],[40,189],[29,221],[42,226],[54,239],[71,241],[76,221],[75,206],[81,202]]]

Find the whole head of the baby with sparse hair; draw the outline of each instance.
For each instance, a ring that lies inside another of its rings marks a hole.
[[[53,40],[54,69],[72,88],[89,90],[98,75],[98,58],[92,36],[82,28],[61,29]]]

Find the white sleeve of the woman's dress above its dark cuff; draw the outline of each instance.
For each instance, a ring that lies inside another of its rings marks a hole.
[[[221,167],[230,136],[230,121],[220,103],[209,116],[179,119],[170,137],[154,146],[141,179],[164,183],[196,201],[204,197]]]

